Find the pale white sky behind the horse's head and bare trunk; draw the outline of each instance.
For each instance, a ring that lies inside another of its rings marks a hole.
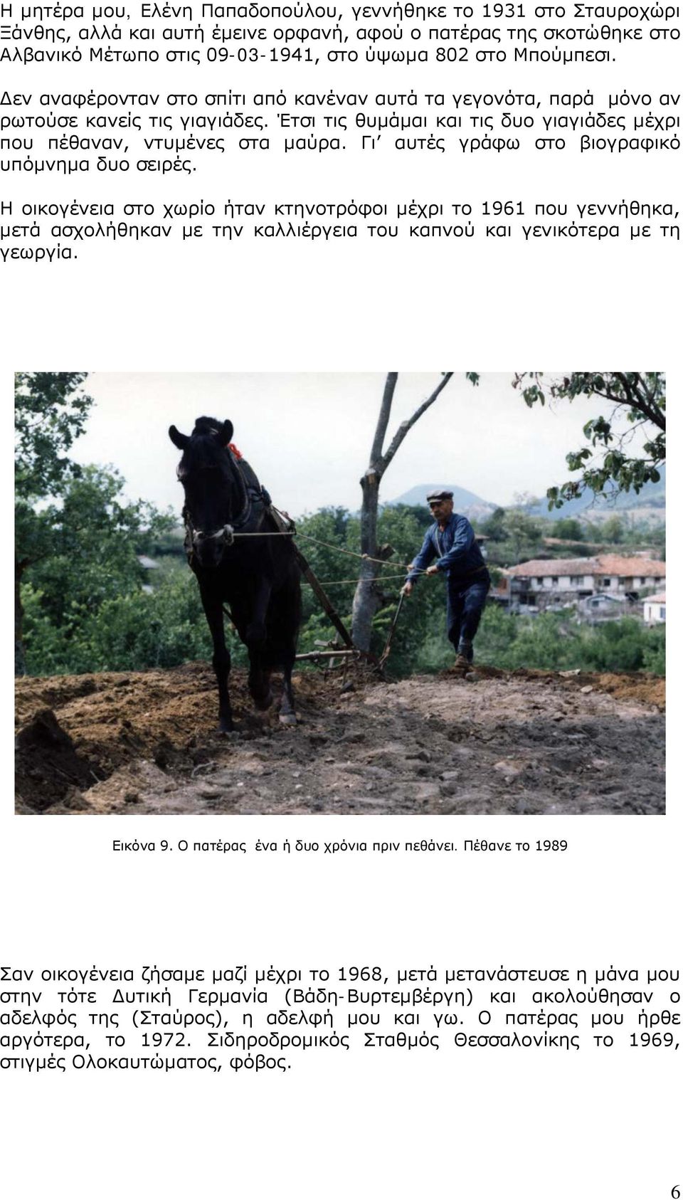
[[[564,482],[565,455],[583,443],[582,426],[603,402],[528,409],[513,377],[483,374],[474,388],[465,372],[455,373],[409,431],[387,470],[381,499],[420,484],[456,484],[507,505],[520,493],[543,496]],[[437,371],[399,376],[387,444],[439,378]],[[381,373],[92,372],[86,390],[96,403],[72,456],[112,463],[126,480],[128,498],[180,511],[179,452],[168,426],[190,433],[199,415],[228,418],[233,440],[278,508],[292,516],[323,505],[355,510],[383,385]]]

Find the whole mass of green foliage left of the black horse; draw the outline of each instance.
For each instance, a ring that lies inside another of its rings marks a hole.
[[[14,378],[18,673],[26,670],[25,646],[30,671],[96,670],[107,622],[116,616],[107,606],[139,601],[138,553],[174,524],[151,504],[126,502],[114,470],[70,460],[92,406],[85,378],[84,372]]]

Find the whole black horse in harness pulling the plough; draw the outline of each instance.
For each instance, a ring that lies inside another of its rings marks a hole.
[[[232,421],[199,416],[190,436],[179,433],[175,425],[168,436],[182,450],[178,478],[185,488],[185,548],[214,640],[220,728],[226,733],[233,728],[224,604],[248,650],[248,689],[256,707],[270,707],[270,672],[282,667],[280,720],[295,725],[292,667],[301,623],[301,587],[292,539],[248,536],[278,534],[281,527],[268,492],[230,446]]]

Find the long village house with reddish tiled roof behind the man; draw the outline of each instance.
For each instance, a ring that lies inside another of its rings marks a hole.
[[[639,599],[641,589],[665,586],[666,563],[642,554],[538,558],[510,566],[505,576],[510,608],[579,605],[597,596],[609,596],[625,607]]]

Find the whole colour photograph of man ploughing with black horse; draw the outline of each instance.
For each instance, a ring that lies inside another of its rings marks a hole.
[[[663,372],[16,376],[16,812],[663,815]]]

